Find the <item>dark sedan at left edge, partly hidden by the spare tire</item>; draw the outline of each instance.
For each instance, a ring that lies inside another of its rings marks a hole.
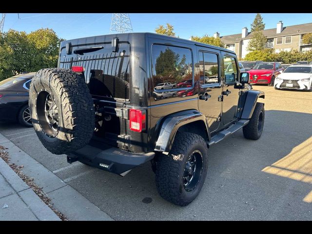
[[[28,90],[35,73],[23,73],[0,81],[0,121],[18,121],[32,127]]]

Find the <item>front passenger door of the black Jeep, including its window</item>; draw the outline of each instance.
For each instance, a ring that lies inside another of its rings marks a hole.
[[[236,119],[239,89],[234,89],[234,84],[239,83],[239,69],[237,59],[233,55],[222,52],[223,63],[223,108],[222,119],[226,125]]]

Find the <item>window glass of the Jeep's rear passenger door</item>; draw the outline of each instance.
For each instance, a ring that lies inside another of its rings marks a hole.
[[[219,82],[219,65],[216,54],[199,53],[200,84],[212,84]]]

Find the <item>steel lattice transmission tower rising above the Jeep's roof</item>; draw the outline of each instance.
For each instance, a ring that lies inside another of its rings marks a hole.
[[[128,13],[113,13],[110,33],[133,32]]]

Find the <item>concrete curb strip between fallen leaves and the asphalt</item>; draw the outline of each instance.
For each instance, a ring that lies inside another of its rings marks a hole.
[[[11,162],[23,165],[23,173],[34,178],[34,182],[52,199],[53,206],[69,220],[114,220],[1,134],[0,145],[8,148]]]

